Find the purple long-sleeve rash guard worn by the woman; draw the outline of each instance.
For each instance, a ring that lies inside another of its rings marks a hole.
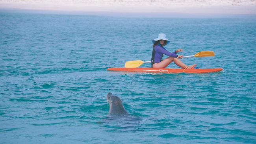
[[[155,51],[154,59],[152,59],[152,63],[153,64],[161,62],[163,54],[165,54],[165,55],[167,55],[169,57],[178,57],[178,55],[177,55],[177,53],[175,51],[171,53],[168,50],[166,50],[164,47],[162,47],[161,45],[154,46],[154,50],[153,51]]]

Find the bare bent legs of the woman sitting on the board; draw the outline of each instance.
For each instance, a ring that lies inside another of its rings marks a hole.
[[[166,66],[168,66],[171,62],[173,62],[177,65],[180,66],[181,68],[187,68],[187,69],[191,69],[193,67],[196,66],[196,64],[191,65],[191,66],[187,66],[184,63],[182,63],[182,61],[176,57],[167,57],[166,59],[164,59],[163,61],[161,61],[160,63],[155,63],[153,65],[153,68],[166,68]]]

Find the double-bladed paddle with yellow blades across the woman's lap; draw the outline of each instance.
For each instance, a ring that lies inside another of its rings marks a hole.
[[[214,52],[213,51],[202,51],[202,52],[198,52],[195,55],[189,55],[189,56],[184,56],[182,58],[186,58],[186,57],[211,57],[214,56]],[[151,61],[141,61],[141,60],[136,60],[136,61],[126,61],[124,67],[126,68],[137,68],[139,66],[141,66],[143,63],[151,63]]]

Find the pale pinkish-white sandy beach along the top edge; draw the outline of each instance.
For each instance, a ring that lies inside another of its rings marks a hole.
[[[256,0],[0,0],[0,8],[113,13],[256,14]]]

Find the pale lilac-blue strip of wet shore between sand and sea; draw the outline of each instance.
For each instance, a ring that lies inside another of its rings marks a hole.
[[[126,17],[126,18],[253,18],[256,14],[212,14],[212,13],[129,13],[109,11],[57,11],[19,8],[1,8],[0,13],[24,13],[24,14],[49,14],[49,15],[87,15],[103,17]]]

